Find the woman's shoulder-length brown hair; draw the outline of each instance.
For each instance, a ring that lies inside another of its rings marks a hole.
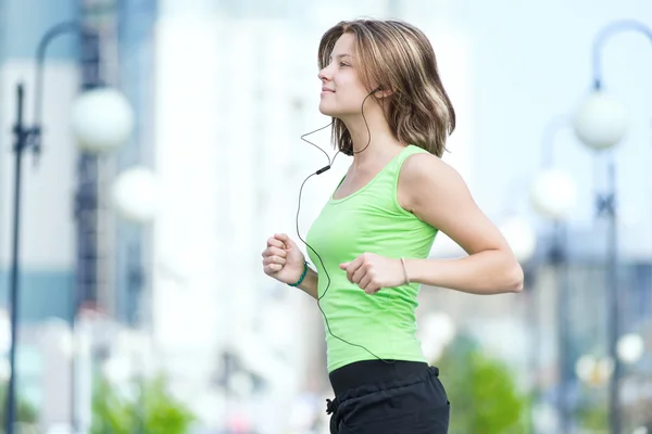
[[[455,129],[455,111],[439,78],[428,38],[399,21],[343,21],[322,37],[319,69],[330,63],[333,48],[343,34],[355,37],[358,73],[369,92],[378,86],[392,90],[383,101],[387,100],[385,114],[396,138],[441,156]],[[342,153],[353,154],[351,133],[337,118],[333,119],[333,140]]]

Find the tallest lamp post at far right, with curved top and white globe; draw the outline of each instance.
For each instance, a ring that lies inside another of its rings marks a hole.
[[[600,152],[612,150],[627,130],[627,115],[624,106],[603,90],[602,84],[602,48],[609,38],[622,31],[636,31],[652,41],[652,30],[644,24],[625,20],[605,26],[593,40],[591,92],[580,103],[573,122],[575,135],[589,149]],[[607,311],[607,348],[613,360],[613,374],[609,382],[609,421],[610,432],[620,434],[620,361],[617,356],[619,333],[618,306],[618,230],[616,213],[616,167],[613,152],[609,154],[607,191],[597,197],[598,213],[609,220],[606,265],[606,311]]]

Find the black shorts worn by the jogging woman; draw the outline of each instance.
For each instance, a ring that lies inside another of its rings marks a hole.
[[[379,371],[385,381],[365,381]],[[448,433],[450,403],[436,367],[374,360],[340,368],[330,380],[336,392],[326,408],[331,434]]]

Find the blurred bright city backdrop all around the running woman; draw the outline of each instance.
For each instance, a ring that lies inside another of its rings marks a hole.
[[[3,432],[328,432],[321,314],[260,253],[298,241],[318,41],[360,16],[430,38],[444,159],[526,271],[422,290],[451,433],[652,432],[648,0],[1,0]]]

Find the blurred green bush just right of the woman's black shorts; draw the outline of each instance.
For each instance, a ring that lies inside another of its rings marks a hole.
[[[451,401],[451,434],[523,434],[529,398],[510,367],[468,337],[454,341],[435,363]]]

